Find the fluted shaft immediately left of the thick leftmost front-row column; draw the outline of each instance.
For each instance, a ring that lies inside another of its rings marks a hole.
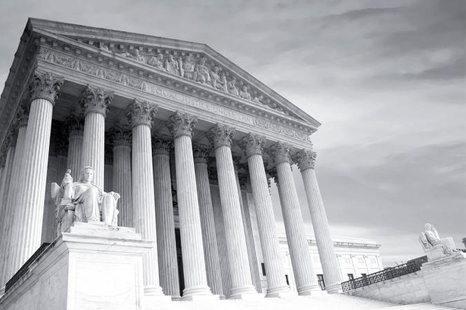
[[[13,275],[11,270],[12,267],[9,263],[10,256],[13,254],[10,247],[13,247],[17,240],[14,238],[14,227],[12,223],[14,222],[14,205],[16,203],[17,190],[19,188],[19,176],[21,174],[21,163],[25,141],[26,126],[20,126],[18,128],[16,146],[10,147],[6,162],[6,173],[8,173],[8,175],[6,175],[5,178],[7,183],[4,189],[4,205],[1,214],[1,218],[4,219],[4,221],[0,231],[0,295],[6,282],[8,282]]]

